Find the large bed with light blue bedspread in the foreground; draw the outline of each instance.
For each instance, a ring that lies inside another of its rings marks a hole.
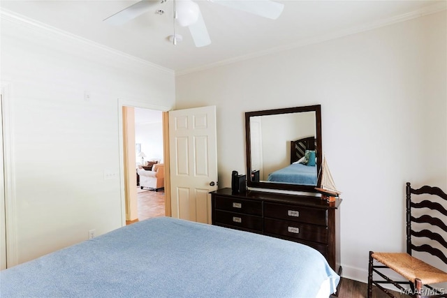
[[[150,218],[0,271],[2,297],[325,297],[339,276],[291,241]]]

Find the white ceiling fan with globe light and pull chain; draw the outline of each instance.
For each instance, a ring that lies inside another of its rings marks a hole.
[[[104,22],[115,26],[122,25],[130,20],[146,13],[154,6],[160,3],[166,3],[168,0],[143,0],[120,10],[119,12],[107,17]],[[203,47],[211,43],[208,35],[205,21],[197,3],[192,0],[172,0],[174,3],[174,21],[182,27],[188,27],[196,47]],[[207,0],[213,3],[219,3],[222,6],[243,10],[247,13],[268,17],[276,20],[281,15],[284,8],[283,3],[271,0]],[[175,30],[175,27],[174,27]],[[176,34],[173,35],[173,42],[176,44]]]

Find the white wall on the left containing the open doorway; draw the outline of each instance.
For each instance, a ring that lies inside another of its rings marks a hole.
[[[85,240],[91,229],[122,226],[119,105],[168,110],[174,81],[170,70],[2,12],[10,265]],[[116,178],[105,179],[105,171]]]

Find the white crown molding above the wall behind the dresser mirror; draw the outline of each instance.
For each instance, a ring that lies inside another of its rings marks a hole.
[[[447,1],[446,0],[440,0],[437,3],[432,4],[431,6],[425,6],[423,8],[420,8],[418,10],[413,10],[409,13],[404,13],[402,15],[397,15],[395,17],[390,17],[388,19],[383,19],[383,20],[377,20],[375,22],[370,22],[367,24],[362,24],[360,26],[356,26],[356,27],[351,27],[349,29],[344,29],[344,30],[340,30],[340,31],[335,31],[332,33],[328,33],[325,35],[321,35],[321,36],[315,36],[312,38],[307,38],[307,39],[303,39],[303,40],[299,40],[295,43],[290,43],[288,45],[282,45],[279,47],[272,47],[269,50],[264,50],[264,51],[259,51],[259,52],[254,52],[251,54],[247,54],[247,55],[243,55],[243,56],[239,56],[239,57],[235,57],[235,58],[230,58],[230,59],[226,59],[226,60],[222,60],[222,61],[218,61],[212,64],[206,64],[203,66],[198,66],[196,68],[187,68],[184,70],[177,70],[175,71],[175,76],[180,76],[180,75],[187,75],[189,73],[196,73],[202,70],[207,70],[210,68],[216,68],[219,66],[225,66],[228,64],[233,64],[236,62],[240,62],[240,61],[245,61],[245,60],[249,60],[249,59],[254,59],[254,58],[258,58],[258,57],[263,57],[266,56],[268,54],[275,54],[278,52],[283,52],[286,50],[292,50],[298,47],[304,47],[305,45],[312,45],[315,43],[322,43],[324,41],[328,41],[328,40],[332,40],[335,38],[341,38],[344,36],[349,36],[351,34],[355,34],[355,33],[359,33],[362,31],[369,31],[372,29],[376,29],[376,28],[380,28],[380,27],[386,27],[388,25],[391,24],[395,24],[395,23],[399,23],[399,22],[404,22],[406,20],[411,20],[411,19],[415,19],[416,17],[422,17],[424,15],[430,15],[432,13],[438,13],[439,11],[442,10],[446,10],[447,9]]]

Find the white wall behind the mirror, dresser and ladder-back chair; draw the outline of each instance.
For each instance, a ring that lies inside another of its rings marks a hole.
[[[219,186],[245,171],[244,112],[321,104],[344,276],[404,248],[404,184],[447,189],[446,11],[176,77],[176,108],[217,105]],[[190,88],[194,86],[194,88]]]

